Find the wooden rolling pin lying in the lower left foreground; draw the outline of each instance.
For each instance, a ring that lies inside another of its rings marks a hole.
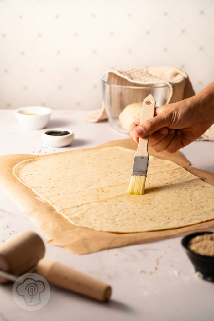
[[[45,245],[38,234],[25,231],[17,234],[0,245],[0,270],[10,273],[8,277],[15,281],[23,273],[35,272],[47,282],[99,301],[107,301],[111,296],[111,287],[84,273],[58,262],[42,259]],[[33,269],[32,269],[33,268]],[[15,274],[15,275],[13,275]],[[8,279],[0,277],[0,283]]]

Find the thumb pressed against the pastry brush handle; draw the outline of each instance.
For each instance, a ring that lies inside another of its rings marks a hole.
[[[161,115],[161,114],[162,113],[160,113],[159,115],[153,118],[146,120],[139,126],[135,127],[134,128],[135,134],[141,137],[145,137],[156,132],[156,130],[160,128],[167,127],[169,124],[167,123],[164,115],[163,114]]]

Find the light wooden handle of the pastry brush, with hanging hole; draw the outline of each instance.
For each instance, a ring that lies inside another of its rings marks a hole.
[[[155,114],[155,99],[150,94],[143,100],[140,124],[154,117],[154,114]],[[143,138],[142,137],[139,138],[138,148],[134,156],[149,156],[148,154],[149,138],[150,138],[150,135]]]

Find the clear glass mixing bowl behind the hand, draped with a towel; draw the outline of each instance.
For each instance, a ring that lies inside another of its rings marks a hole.
[[[123,128],[121,121],[119,120],[119,115],[127,105],[143,102],[149,94],[152,94],[156,100],[156,107],[158,107],[165,105],[170,96],[170,87],[164,83],[124,86],[107,82],[107,74],[104,74],[101,77],[101,81],[103,102],[106,108],[109,124],[117,132],[123,134],[128,134],[128,127],[126,126],[126,129]],[[130,117],[130,124],[133,120],[134,119]],[[126,120],[126,122],[127,121],[128,120]]]

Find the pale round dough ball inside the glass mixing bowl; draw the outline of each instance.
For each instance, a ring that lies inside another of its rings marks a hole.
[[[143,102],[135,102],[126,106],[120,113],[119,122],[123,129],[129,130],[130,124],[137,118],[141,117],[142,104]]]

